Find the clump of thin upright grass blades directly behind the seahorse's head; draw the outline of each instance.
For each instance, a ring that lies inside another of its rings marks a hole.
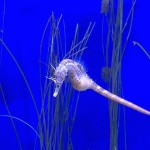
[[[51,77],[53,75],[55,66],[57,66],[60,60],[64,58],[75,58],[75,57],[80,58],[81,57],[82,52],[86,49],[87,41],[94,27],[94,25],[90,23],[84,34],[84,37],[82,38],[81,41],[78,41],[79,25],[77,24],[74,40],[72,42],[70,51],[66,53],[65,48],[64,48],[64,51],[60,49],[61,47],[63,47],[62,45],[63,42],[59,41],[61,40],[60,36],[62,35],[60,34],[61,31],[58,28],[60,20],[61,20],[61,17],[57,21],[55,20],[54,15],[52,14],[51,19],[48,21],[46,25],[46,28],[47,28],[48,24],[50,24],[50,31],[51,31],[50,37],[49,37],[50,46],[46,54],[47,56],[49,56],[48,59],[46,60],[46,64],[51,64],[51,67],[48,70],[46,70],[46,73],[45,73],[46,78],[45,78],[44,86],[43,86],[44,88],[41,89],[42,106],[43,106],[42,111],[41,111],[41,117],[44,120],[43,122],[44,132],[45,134],[50,133],[50,135],[47,135],[45,139],[47,143],[46,149],[48,148],[73,149],[72,142],[71,142],[71,131],[73,128],[76,108],[77,108],[78,99],[79,99],[79,95],[74,96],[71,85],[68,82],[65,82],[65,85],[63,89],[61,90],[56,100],[56,103],[52,104],[52,101],[54,98],[51,96],[53,95],[52,91],[54,88],[53,88],[52,81],[49,81],[47,77]],[[46,33],[45,31],[48,29],[46,28],[44,30],[44,34]],[[65,33],[65,28],[64,28],[64,33]],[[43,34],[43,37],[44,37],[44,34]],[[41,40],[42,42],[44,40],[43,37]],[[66,37],[64,39],[66,39]],[[43,45],[42,42],[41,42],[41,52],[40,52],[41,56],[42,56],[42,45]],[[40,71],[40,72],[42,73],[43,71]],[[42,87],[43,75],[41,74],[40,77],[41,77],[41,87]],[[48,95],[47,103],[45,103],[46,95]],[[45,116],[47,118],[45,118]],[[46,122],[46,120],[49,120],[49,122]],[[65,143],[67,143],[67,146],[65,146]]]

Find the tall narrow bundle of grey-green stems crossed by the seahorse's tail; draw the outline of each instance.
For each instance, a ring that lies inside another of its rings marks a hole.
[[[114,0],[103,0],[101,5],[101,12],[104,14],[102,21],[102,50],[105,61],[105,67],[102,68],[103,69],[102,78],[104,79],[104,81],[107,79],[106,81],[108,83],[107,87],[109,91],[119,96],[123,96],[121,83],[121,62],[131,33],[135,3],[136,0],[132,1],[132,8],[128,14],[128,17],[124,25],[123,25],[123,0],[117,1],[116,10],[114,7],[116,1]],[[105,25],[107,27],[106,33],[104,33]],[[124,36],[123,33],[127,25],[129,26],[128,33],[125,37],[125,41],[122,41],[122,37]],[[104,37],[106,37],[106,40],[104,40]],[[109,102],[110,150],[118,149],[118,131],[120,120],[119,110],[120,109],[118,104],[112,101]],[[125,149],[127,149],[125,111],[124,111],[124,139],[125,139]]]

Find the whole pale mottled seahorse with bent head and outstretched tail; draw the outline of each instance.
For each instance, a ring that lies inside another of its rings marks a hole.
[[[120,103],[124,106],[130,107],[138,112],[150,115],[150,111],[137,106],[111,92],[103,89],[101,86],[97,85],[85,72],[83,66],[71,59],[64,59],[60,62],[59,66],[55,69],[54,78],[49,78],[55,82],[55,92],[54,97],[58,95],[59,89],[66,76],[70,78],[70,81],[74,89],[78,91],[85,91],[87,89],[92,89],[95,92],[107,97],[114,102]]]

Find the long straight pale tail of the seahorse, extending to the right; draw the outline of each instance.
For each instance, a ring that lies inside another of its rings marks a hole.
[[[146,109],[144,109],[144,108],[142,108],[142,107],[140,107],[140,106],[138,106],[136,104],[133,104],[133,103],[131,103],[131,102],[129,102],[129,101],[127,101],[127,100],[125,100],[125,99],[115,95],[115,94],[112,94],[111,92],[103,89],[102,87],[100,87],[96,83],[93,84],[92,90],[94,90],[95,92],[105,96],[106,98],[108,98],[110,100],[113,100],[114,102],[120,103],[120,104],[122,104],[124,106],[127,106],[127,107],[129,107],[131,109],[134,109],[134,110],[136,110],[138,112],[141,112],[143,114],[150,115],[150,111],[148,111],[148,110],[146,110]]]

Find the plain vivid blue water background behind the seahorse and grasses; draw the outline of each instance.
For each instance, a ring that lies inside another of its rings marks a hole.
[[[2,28],[3,0],[0,1],[0,28]],[[3,40],[20,64],[36,98],[41,106],[39,84],[40,41],[45,24],[52,11],[58,18],[61,14],[66,25],[67,48],[73,39],[76,23],[83,35],[89,22],[96,26],[82,56],[88,74],[105,87],[101,78],[104,58],[101,43],[101,2],[93,1],[7,1]],[[124,2],[124,21],[131,8],[129,0]],[[150,53],[149,1],[137,0],[131,36],[122,61],[122,85],[124,97],[150,110],[150,59],[132,41],[140,42]],[[0,35],[2,38],[2,33]],[[45,67],[45,66],[43,66]],[[44,77],[43,77],[44,78]],[[36,112],[27,87],[14,61],[2,48],[0,82],[11,114],[36,128]],[[123,107],[119,126],[119,150],[125,147]],[[7,114],[0,94],[0,114]],[[126,143],[128,150],[150,149],[150,116],[125,108]],[[35,134],[24,124],[16,122],[23,149],[33,149]],[[81,93],[77,115],[72,132],[75,150],[109,149],[108,100],[93,91]],[[12,148],[10,148],[12,147]],[[18,149],[18,142],[8,118],[0,117],[0,149]]]

